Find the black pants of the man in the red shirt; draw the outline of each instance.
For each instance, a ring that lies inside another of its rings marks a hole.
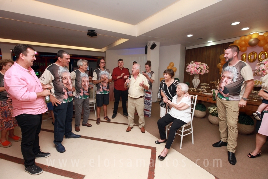
[[[113,88],[113,93],[114,93],[113,113],[117,114],[117,109],[118,109],[120,97],[122,97],[123,113],[127,113],[128,90],[121,91],[121,90],[116,90],[115,88]]]

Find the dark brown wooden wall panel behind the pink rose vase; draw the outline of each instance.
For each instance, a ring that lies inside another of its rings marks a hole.
[[[207,47],[199,47],[186,50],[184,69],[186,69],[186,64],[190,63],[191,61],[198,61],[198,62],[200,61],[207,64],[209,67],[209,72],[204,75],[199,75],[199,79],[200,83],[208,83],[210,87],[209,90],[211,90],[212,84],[209,82],[220,79],[219,69],[217,68],[217,64],[220,63],[219,56],[221,54],[224,54],[224,49],[232,43],[233,42],[229,42],[224,44],[211,45]],[[190,75],[184,70],[183,81],[184,82],[188,81],[190,83],[190,87],[194,87],[192,83],[193,79],[194,75]],[[198,87],[200,86],[201,85],[199,85]]]

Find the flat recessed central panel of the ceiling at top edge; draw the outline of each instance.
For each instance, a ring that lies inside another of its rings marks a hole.
[[[138,24],[179,0],[36,0],[128,24]]]

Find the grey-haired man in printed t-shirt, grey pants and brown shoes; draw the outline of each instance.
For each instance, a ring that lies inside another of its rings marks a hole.
[[[90,113],[89,108],[89,79],[88,74],[85,71],[88,68],[88,61],[78,60],[77,67],[79,69],[71,72],[72,85],[75,87],[74,91],[74,108],[75,108],[75,127],[76,132],[80,131],[80,121],[82,109],[84,109],[83,122],[82,126],[91,127],[91,124],[88,124],[88,117]]]

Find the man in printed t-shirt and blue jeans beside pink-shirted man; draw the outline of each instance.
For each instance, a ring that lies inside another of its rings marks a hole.
[[[65,148],[61,142],[64,135],[66,139],[80,138],[81,136],[72,132],[73,87],[71,74],[67,68],[70,55],[67,51],[60,50],[57,57],[57,61],[46,68],[39,80],[42,86],[46,84],[52,86],[50,101],[54,106],[55,116],[54,143],[57,151],[63,153]]]

